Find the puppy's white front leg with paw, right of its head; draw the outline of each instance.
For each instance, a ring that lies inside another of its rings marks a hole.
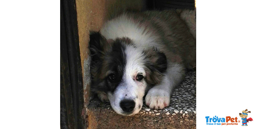
[[[156,84],[146,95],[145,101],[149,108],[163,109],[170,105],[172,90],[182,81],[185,70],[180,65],[173,65],[164,75],[161,83]]]

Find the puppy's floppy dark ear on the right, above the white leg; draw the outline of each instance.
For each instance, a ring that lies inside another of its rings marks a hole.
[[[160,83],[167,69],[165,54],[156,47],[144,50],[143,53],[146,55],[146,81],[151,85]]]

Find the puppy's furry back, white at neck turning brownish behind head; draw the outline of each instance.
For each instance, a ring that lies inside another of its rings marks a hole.
[[[124,13],[107,21],[100,32],[106,39],[128,37],[136,47],[157,47],[169,63],[196,66],[196,40],[175,10]]]

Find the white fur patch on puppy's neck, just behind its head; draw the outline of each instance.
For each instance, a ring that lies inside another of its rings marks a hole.
[[[158,45],[155,42],[158,37],[152,31],[139,26],[139,23],[135,23],[126,14],[106,22],[100,32],[106,39],[129,37],[137,47],[148,48]]]

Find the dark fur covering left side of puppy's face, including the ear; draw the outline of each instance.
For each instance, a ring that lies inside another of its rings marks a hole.
[[[128,39],[116,39],[114,42],[108,43],[99,32],[91,32],[89,48],[91,50],[91,87],[93,91],[113,93],[118,84],[122,82],[126,64],[125,45],[122,43],[124,40]],[[106,75],[108,71],[115,75],[115,80],[109,80],[109,76]]]

